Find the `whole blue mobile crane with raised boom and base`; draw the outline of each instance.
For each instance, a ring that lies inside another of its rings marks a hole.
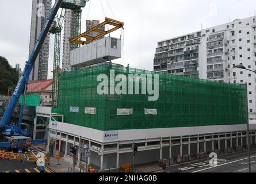
[[[49,29],[51,28],[52,22],[58,13],[60,5],[63,0],[56,0],[54,6],[52,7],[51,13],[47,18],[43,29],[41,30],[40,36],[37,39],[35,46],[33,47],[32,52],[30,53],[29,59],[25,64],[25,68],[20,76],[20,79],[17,83],[17,86],[13,92],[12,98],[10,99],[9,105],[6,108],[5,113],[3,114],[2,120],[0,122],[0,134],[1,142],[0,148],[23,148],[28,147],[31,144],[45,143],[46,140],[31,140],[28,136],[28,125],[21,124],[22,113],[24,109],[24,98],[26,85],[29,81],[29,75],[32,71],[36,58],[39,55],[40,49],[44,43],[45,37],[47,36]],[[20,99],[22,92],[24,91],[23,102],[20,109],[20,117],[18,121],[18,126],[10,125],[10,120],[14,109],[16,108],[17,102]]]

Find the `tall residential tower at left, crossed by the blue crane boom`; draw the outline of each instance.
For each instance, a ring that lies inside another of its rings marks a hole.
[[[51,11],[52,0],[33,0],[32,17],[30,25],[30,44],[29,54],[38,39],[41,30],[45,24],[46,18]],[[29,81],[46,80],[48,75],[48,57],[49,57],[49,34],[45,37],[44,44],[36,59],[35,66],[29,76]]]

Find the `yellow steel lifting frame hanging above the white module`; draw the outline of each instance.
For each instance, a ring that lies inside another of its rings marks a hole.
[[[114,26],[114,28],[106,30],[106,31],[101,30],[100,28],[105,25],[112,25],[112,26]],[[82,45],[89,44],[92,41],[97,40],[100,37],[103,37],[106,34],[114,32],[115,30],[120,29],[120,28],[124,28],[124,22],[116,21],[116,20],[106,17],[104,22],[95,26],[94,28],[87,30],[86,32],[80,34],[79,36],[74,37],[73,39],[70,39],[70,42],[76,43],[76,44],[82,44]],[[91,33],[91,32],[97,32],[100,34],[98,34],[98,36],[92,37],[92,36],[89,36],[89,33]],[[85,39],[89,39],[89,40],[83,41],[83,40],[81,40],[81,38],[85,38]]]

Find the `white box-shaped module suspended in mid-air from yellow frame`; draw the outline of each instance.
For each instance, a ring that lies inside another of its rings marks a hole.
[[[121,58],[121,39],[104,37],[70,51],[70,66],[86,67]]]

